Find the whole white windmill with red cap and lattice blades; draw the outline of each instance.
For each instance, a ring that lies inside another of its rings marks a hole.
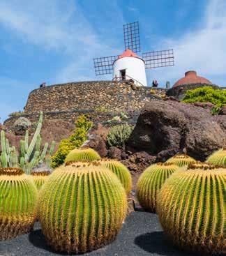
[[[174,50],[143,52],[140,48],[139,22],[123,25],[125,52],[121,55],[94,58],[96,75],[113,74],[116,81],[133,80],[140,86],[146,86],[145,69],[174,66]]]

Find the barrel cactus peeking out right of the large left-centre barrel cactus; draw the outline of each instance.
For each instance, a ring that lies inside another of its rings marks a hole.
[[[132,188],[132,176],[128,168],[117,160],[104,159],[100,160],[100,164],[107,169],[110,169],[119,178],[123,187],[126,190],[126,194],[130,193]]]

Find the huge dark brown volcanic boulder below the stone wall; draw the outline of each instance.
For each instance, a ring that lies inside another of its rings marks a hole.
[[[225,121],[226,117],[214,118],[203,107],[152,100],[142,110],[127,146],[156,156],[156,161],[165,161],[178,152],[205,160],[223,146]]]

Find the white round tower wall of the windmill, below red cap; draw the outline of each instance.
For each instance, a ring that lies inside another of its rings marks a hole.
[[[121,59],[116,59],[113,64],[113,78],[120,77],[120,70],[122,69],[126,69],[126,75],[137,80],[143,86],[146,86],[145,66],[142,59],[136,57],[123,57]]]

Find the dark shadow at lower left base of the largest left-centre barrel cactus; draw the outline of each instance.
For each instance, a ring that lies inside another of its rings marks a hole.
[[[33,246],[43,249],[43,250],[47,250],[50,253],[56,253],[56,251],[52,250],[52,248],[50,246],[47,245],[46,241],[45,241],[45,236],[42,233],[41,229],[36,229],[33,230],[30,234],[29,234],[29,241],[30,243],[33,244]],[[67,253],[58,253],[57,255],[68,255]]]

